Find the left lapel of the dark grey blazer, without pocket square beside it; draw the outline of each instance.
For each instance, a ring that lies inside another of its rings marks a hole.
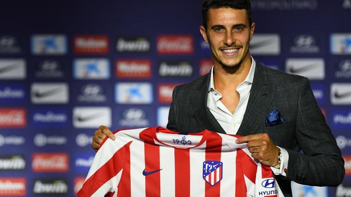
[[[194,108],[194,116],[201,127],[225,134],[225,131],[207,108],[208,87],[210,84],[211,72],[204,77],[204,80],[194,87],[191,95],[191,102]]]

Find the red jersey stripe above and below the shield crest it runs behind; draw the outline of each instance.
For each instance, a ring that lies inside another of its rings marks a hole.
[[[221,161],[222,138],[217,133],[212,133],[211,135],[211,140],[206,141],[205,161]],[[208,178],[208,182],[211,182],[211,174]],[[215,196],[220,196],[220,182],[213,186],[205,182],[205,197]]]

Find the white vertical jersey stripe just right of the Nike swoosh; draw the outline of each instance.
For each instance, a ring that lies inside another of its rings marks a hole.
[[[160,187],[161,196],[176,195],[174,148],[160,145]]]

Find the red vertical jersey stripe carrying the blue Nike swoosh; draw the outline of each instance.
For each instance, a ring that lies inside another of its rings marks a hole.
[[[151,172],[160,169],[160,147],[154,143],[150,135],[150,129],[145,129],[139,134],[139,138],[144,141],[145,171]],[[146,197],[160,196],[160,171],[145,176]]]

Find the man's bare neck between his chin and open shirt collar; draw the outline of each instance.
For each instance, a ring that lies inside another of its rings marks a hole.
[[[214,63],[213,80],[214,87],[217,88],[236,88],[245,80],[251,68],[250,54],[245,57],[237,69],[225,69],[219,63]]]

